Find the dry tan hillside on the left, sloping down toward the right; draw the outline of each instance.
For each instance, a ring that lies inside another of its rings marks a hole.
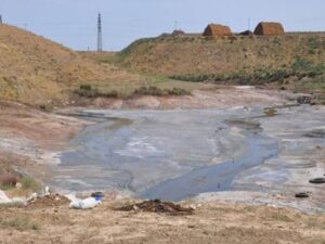
[[[99,64],[31,33],[0,25],[0,99],[66,103],[80,84],[136,81],[139,76]]]

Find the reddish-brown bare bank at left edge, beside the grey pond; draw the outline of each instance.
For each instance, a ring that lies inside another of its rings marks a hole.
[[[84,123],[14,102],[0,101],[0,140],[17,139],[42,149],[60,149]]]

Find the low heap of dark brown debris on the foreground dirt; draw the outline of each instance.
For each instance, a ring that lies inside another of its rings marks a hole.
[[[193,208],[185,208],[173,203],[161,202],[160,200],[144,201],[139,204],[118,208],[117,210],[121,210],[121,211],[142,210],[142,211],[152,211],[152,213],[164,213],[168,215],[192,215],[194,213]]]

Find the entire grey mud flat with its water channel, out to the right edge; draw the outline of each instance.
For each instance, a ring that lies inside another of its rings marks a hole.
[[[261,204],[324,209],[324,188],[308,182],[325,172],[323,107],[277,108],[271,117],[262,107],[246,106],[81,113],[104,120],[62,152],[49,181],[57,189],[172,201],[204,193],[198,201],[262,198]],[[311,197],[297,203],[299,191]]]

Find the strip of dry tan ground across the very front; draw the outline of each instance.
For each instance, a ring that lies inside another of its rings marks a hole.
[[[204,204],[191,216],[114,210],[0,207],[0,243],[249,243],[324,244],[325,216],[290,209]],[[128,202],[129,203],[129,202]]]

